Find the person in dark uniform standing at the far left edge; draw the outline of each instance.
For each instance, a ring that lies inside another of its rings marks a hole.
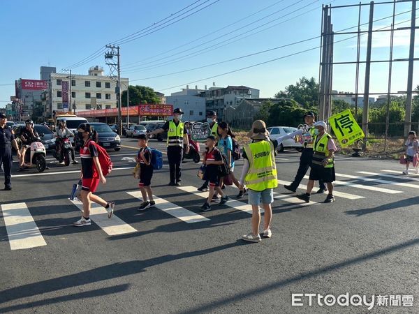
[[[12,145],[16,149],[17,156],[19,157],[20,151],[15,140],[15,135],[12,129],[6,126],[6,122],[6,116],[0,114],[0,166],[3,165],[4,170],[4,190],[11,190]]]

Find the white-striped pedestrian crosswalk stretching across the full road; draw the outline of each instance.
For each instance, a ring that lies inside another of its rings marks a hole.
[[[371,171],[355,171],[354,174],[336,173],[339,179],[335,181],[336,189],[334,195],[344,200],[361,200],[366,197],[371,197],[372,192],[374,195],[397,195],[406,193],[409,190],[417,190],[419,188],[419,177],[415,175],[404,176],[401,172],[395,170],[380,170],[379,172]],[[308,179],[308,176],[304,177]],[[279,185],[283,186],[290,184],[289,181],[280,179]],[[154,196],[156,206],[154,210],[161,211],[183,223],[205,223],[211,220],[210,215],[205,215],[200,211],[200,205],[203,204],[208,193],[200,192],[196,186],[177,186],[175,187],[179,192],[190,194],[189,199],[196,201],[192,206],[186,208],[177,204],[176,200],[166,200],[164,198]],[[235,186],[233,186],[235,188]],[[300,184],[299,190],[303,193],[307,186]],[[397,189],[395,189],[397,188]],[[345,190],[343,192],[342,190]],[[229,188],[231,195],[232,189]],[[237,192],[237,190],[235,190]],[[126,197],[133,197],[142,201],[141,193],[138,190],[131,190],[124,192]],[[182,193],[181,193],[182,194]],[[323,198],[323,197],[321,197]],[[289,193],[284,188],[279,188],[274,192],[275,202],[281,202],[286,207],[304,208],[316,204],[322,204],[320,198],[319,202],[310,201],[308,203],[298,199],[295,194]],[[312,197],[316,200],[316,197]],[[199,201],[198,201],[199,200]],[[77,201],[68,201],[68,206],[75,209],[82,210],[82,203]],[[172,201],[172,202],[170,202]],[[230,200],[224,205],[223,208],[228,207],[234,211],[242,211],[251,215],[251,205],[247,203],[246,197],[241,200],[235,200],[235,197],[230,197]],[[212,206],[216,209],[217,206]],[[30,207],[25,202],[16,202],[9,204],[0,204],[0,209],[3,214],[3,221],[8,237],[8,244],[10,250],[23,250],[29,248],[38,248],[47,246],[42,229],[40,230],[36,225],[36,220],[31,216]],[[150,209],[153,210],[153,209]],[[260,209],[263,211],[263,209]],[[136,211],[135,211],[136,214]],[[126,223],[122,218],[119,218],[118,211],[115,212],[111,219],[108,218],[107,211],[98,204],[92,204],[91,220],[109,237],[114,237],[122,234],[132,234],[138,232],[137,228],[129,223]],[[2,235],[3,236],[3,235]]]

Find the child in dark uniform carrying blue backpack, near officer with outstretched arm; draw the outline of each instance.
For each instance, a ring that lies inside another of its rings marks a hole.
[[[140,147],[137,156],[137,163],[140,164],[140,183],[138,187],[142,195],[142,203],[138,207],[138,210],[145,211],[145,209],[156,205],[156,202],[153,200],[151,186],[153,177],[152,150],[148,147],[147,135],[141,134],[138,137],[138,147]]]

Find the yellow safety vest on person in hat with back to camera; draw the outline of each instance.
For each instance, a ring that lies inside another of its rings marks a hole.
[[[266,190],[278,186],[277,165],[272,142],[260,141],[244,147],[250,168],[244,183],[251,190]]]

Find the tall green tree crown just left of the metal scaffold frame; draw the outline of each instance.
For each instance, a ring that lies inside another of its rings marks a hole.
[[[288,85],[285,91],[279,91],[275,98],[291,98],[305,109],[318,106],[318,84],[314,77],[301,77],[295,85]]]

